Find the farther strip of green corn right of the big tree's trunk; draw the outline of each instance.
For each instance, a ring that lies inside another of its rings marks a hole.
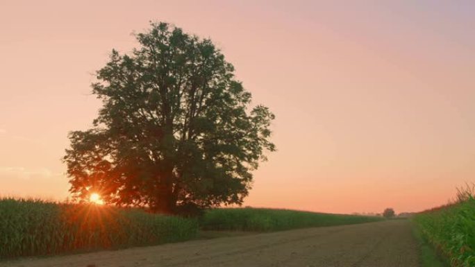
[[[203,230],[270,232],[302,227],[347,225],[381,221],[376,216],[299,212],[288,209],[210,209],[200,220]]]

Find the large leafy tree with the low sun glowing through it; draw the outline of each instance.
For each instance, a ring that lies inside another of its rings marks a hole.
[[[93,128],[70,132],[64,160],[75,198],[150,207],[241,204],[251,171],[274,150],[274,114],[251,94],[208,39],[166,23],[115,50],[92,92],[103,102]]]

